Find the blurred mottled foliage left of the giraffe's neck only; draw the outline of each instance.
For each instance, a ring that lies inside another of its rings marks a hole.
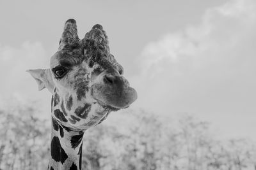
[[[35,117],[35,108],[0,111],[0,168],[46,169],[50,127]]]

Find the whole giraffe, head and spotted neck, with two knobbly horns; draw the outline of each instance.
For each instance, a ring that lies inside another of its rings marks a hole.
[[[50,170],[81,169],[84,132],[137,99],[99,24],[79,39],[76,20],[67,20],[50,68],[28,72],[52,94]]]

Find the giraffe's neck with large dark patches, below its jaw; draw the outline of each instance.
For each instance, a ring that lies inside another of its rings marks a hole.
[[[52,118],[51,154],[48,170],[81,169],[83,131],[72,131]]]

